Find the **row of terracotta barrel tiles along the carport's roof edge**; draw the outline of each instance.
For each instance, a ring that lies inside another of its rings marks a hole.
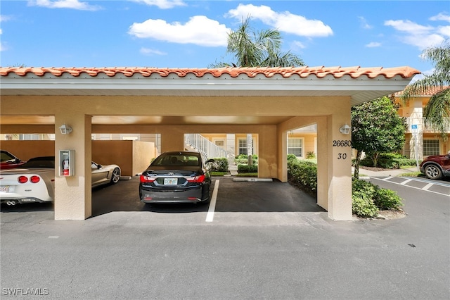
[[[290,77],[292,75],[299,75],[302,78],[315,75],[318,78],[326,77],[327,75],[333,75],[335,78],[340,78],[345,75],[349,75],[352,78],[358,78],[366,75],[368,78],[375,78],[383,76],[385,78],[392,78],[400,75],[404,78],[413,77],[413,75],[420,74],[420,71],[404,66],[395,68],[361,68],[361,67],[292,67],[292,68],[130,68],[130,67],[113,67],[113,68],[34,68],[34,67],[0,67],[0,75],[8,76],[11,73],[15,73],[19,76],[25,76],[29,73],[33,73],[37,76],[44,76],[50,73],[54,76],[62,76],[64,73],[69,73],[74,77],[78,77],[82,74],[87,74],[91,77],[103,73],[110,77],[121,73],[127,77],[131,77],[135,74],[140,74],[144,77],[148,77],[152,74],[158,74],[161,77],[167,77],[170,74],[176,74],[179,77],[185,77],[188,74],[194,74],[196,77],[203,77],[206,74],[210,74],[214,77],[220,77],[221,75],[230,75],[231,77],[238,77],[245,74],[248,77],[255,77],[262,74],[266,77],[273,77],[274,75],[282,75],[283,77]]]

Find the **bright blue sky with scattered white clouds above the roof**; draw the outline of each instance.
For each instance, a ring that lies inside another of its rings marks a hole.
[[[449,1],[1,0],[1,66],[207,68],[250,14],[305,65],[397,67],[450,37]]]

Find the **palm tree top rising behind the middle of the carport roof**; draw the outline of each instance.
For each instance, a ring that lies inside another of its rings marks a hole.
[[[304,65],[302,58],[281,52],[281,33],[269,29],[255,32],[250,27],[250,16],[243,20],[238,30],[228,35],[226,52],[233,54],[234,63],[213,63],[210,68],[238,67],[297,67]]]

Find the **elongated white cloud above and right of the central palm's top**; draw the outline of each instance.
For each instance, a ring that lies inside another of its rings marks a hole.
[[[308,20],[302,15],[294,15],[288,11],[278,13],[272,11],[269,6],[255,6],[253,4],[239,4],[236,9],[226,13],[226,17],[245,20],[250,15],[253,20],[261,20],[280,32],[287,32],[302,37],[328,37],[333,35],[333,30],[321,20]]]

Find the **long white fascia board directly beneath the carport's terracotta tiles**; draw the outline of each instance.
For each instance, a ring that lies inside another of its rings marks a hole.
[[[403,78],[397,75],[393,78],[385,78],[378,76],[376,78],[368,78],[366,76],[352,78],[345,75],[340,78],[326,76],[318,78],[309,76],[300,78],[298,76],[282,77],[276,75],[274,77],[265,76],[240,76],[240,77],[195,77],[186,76],[178,77],[143,77],[134,75],[133,77],[107,75],[100,77],[55,77],[53,75],[46,76],[5,76],[1,77],[1,90],[7,89],[141,89],[141,90],[274,90],[274,91],[311,91],[311,90],[327,90],[327,91],[363,91],[363,90],[385,90],[392,92],[403,90],[411,81],[410,78]],[[176,94],[179,94],[176,93]]]

